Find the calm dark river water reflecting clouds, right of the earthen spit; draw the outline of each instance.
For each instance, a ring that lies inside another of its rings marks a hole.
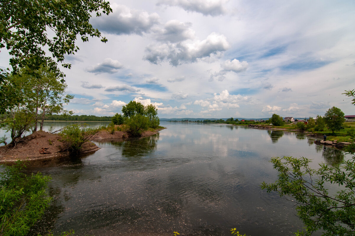
[[[350,156],[300,133],[162,122],[158,135],[95,142],[81,158],[32,164],[49,174],[54,201],[30,235],[293,235],[294,204],[260,189],[274,182],[271,157],[336,164]]]

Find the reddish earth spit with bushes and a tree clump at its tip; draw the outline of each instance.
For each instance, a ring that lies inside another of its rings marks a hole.
[[[130,101],[122,107],[123,115],[116,113],[111,123],[96,128],[86,128],[86,124],[78,123],[61,128],[60,133],[33,131],[31,135],[12,137],[10,144],[0,147],[0,163],[13,163],[17,160],[45,160],[95,152],[94,140],[115,139],[124,141],[129,138],[143,138],[155,135],[164,127],[159,126],[158,110],[154,105],[142,105]],[[37,124],[37,120],[34,120]],[[32,126],[28,126],[32,127]],[[15,128],[9,129],[14,133]],[[29,130],[28,130],[29,131]]]

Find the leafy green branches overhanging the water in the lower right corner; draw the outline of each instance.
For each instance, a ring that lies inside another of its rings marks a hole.
[[[296,202],[297,215],[306,226],[305,232],[296,235],[311,235],[317,230],[323,230],[323,235],[354,235],[355,156],[339,166],[320,164],[318,170],[311,169],[310,162],[304,157],[272,158],[278,180],[263,182],[261,188]],[[329,194],[329,185],[338,191]]]

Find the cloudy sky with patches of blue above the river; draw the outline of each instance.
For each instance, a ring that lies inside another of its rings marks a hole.
[[[112,116],[131,100],[160,118],[355,114],[342,94],[355,89],[353,0],[110,4],[90,21],[108,42],[77,40],[65,57],[76,115]]]

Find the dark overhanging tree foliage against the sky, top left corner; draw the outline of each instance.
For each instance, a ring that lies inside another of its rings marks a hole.
[[[107,42],[89,23],[92,13],[101,16],[101,12],[112,12],[104,0],[3,0],[0,7],[0,48],[11,55],[13,72],[18,67],[37,71],[48,65],[56,75],[63,76],[52,57],[63,62],[65,54],[74,54],[79,49],[75,45],[77,35],[83,42],[89,36]],[[46,56],[44,48],[51,56]],[[70,68],[70,64],[62,66]]]

